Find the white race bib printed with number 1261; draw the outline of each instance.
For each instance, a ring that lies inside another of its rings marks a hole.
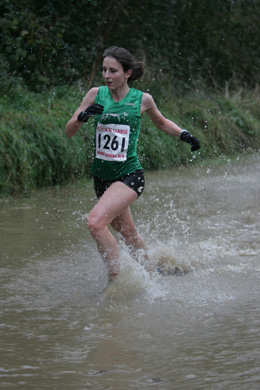
[[[107,161],[126,161],[130,126],[98,123],[96,158]]]

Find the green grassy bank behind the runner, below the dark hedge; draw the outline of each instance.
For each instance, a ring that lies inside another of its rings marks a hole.
[[[0,98],[0,196],[89,176],[93,154],[91,121],[67,139],[64,128],[85,91],[59,87],[36,94],[13,90]],[[165,116],[188,129],[202,144],[199,152],[158,131],[144,115],[138,155],[145,169],[200,163],[221,155],[260,148],[259,90],[206,96],[154,95]]]

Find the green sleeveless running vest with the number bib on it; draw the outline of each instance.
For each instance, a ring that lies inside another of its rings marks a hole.
[[[130,88],[115,102],[107,87],[99,87],[95,103],[104,106],[95,120],[95,152],[91,173],[114,180],[142,169],[137,156],[143,92]]]

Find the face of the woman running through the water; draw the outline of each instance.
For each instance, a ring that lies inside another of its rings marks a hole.
[[[124,72],[122,65],[114,57],[104,58],[102,75],[108,89],[116,90],[123,87],[131,73],[131,70]]]

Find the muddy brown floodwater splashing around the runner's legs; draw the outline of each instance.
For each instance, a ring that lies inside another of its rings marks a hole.
[[[91,180],[0,204],[3,389],[260,389],[260,157],[146,173],[132,206],[155,264],[86,229]]]

